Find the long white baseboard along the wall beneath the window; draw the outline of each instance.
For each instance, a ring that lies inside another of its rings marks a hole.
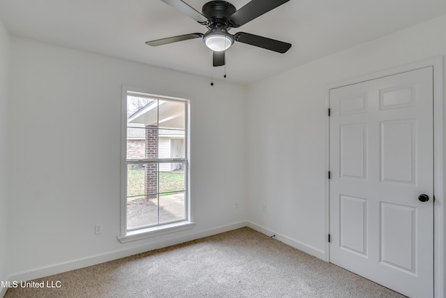
[[[77,260],[70,260],[67,262],[61,262],[58,264],[48,265],[45,267],[39,267],[36,269],[31,269],[28,271],[17,272],[12,274],[8,281],[30,281],[36,278],[42,278],[45,276],[51,276],[54,274],[59,274],[62,272],[75,270],[79,268],[89,267],[93,265],[98,265],[103,262],[109,262],[112,260],[117,260],[120,258],[125,258],[130,255],[137,255],[138,253],[145,253],[146,251],[153,251],[154,249],[164,248],[167,246],[180,244],[187,241],[192,241],[195,239],[212,236],[213,234],[220,234],[222,232],[227,232],[230,230],[236,230],[238,228],[243,228],[247,226],[246,221],[240,221],[238,223],[231,223],[228,225],[222,225],[217,228],[210,228],[208,230],[203,230],[196,232],[194,234],[187,234],[185,236],[175,237],[172,239],[157,241],[152,244],[144,244],[141,246],[133,247],[133,248],[125,248],[118,251],[112,251],[107,253],[102,253],[99,255],[91,255],[86,258],[80,258]],[[6,292],[6,289],[2,289],[0,293]],[[4,293],[3,293],[4,295]],[[0,297],[3,297],[0,295]]]

